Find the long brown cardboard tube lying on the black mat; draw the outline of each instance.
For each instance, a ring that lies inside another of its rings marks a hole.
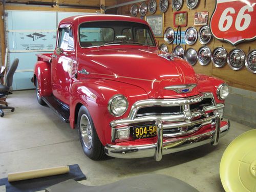
[[[52,168],[44,168],[44,169],[36,169],[36,170],[28,170],[27,172],[18,172],[8,174],[8,181],[20,181],[26,179],[34,179],[40,177],[48,177],[53,175],[60,175],[69,173],[69,166],[59,166]]]

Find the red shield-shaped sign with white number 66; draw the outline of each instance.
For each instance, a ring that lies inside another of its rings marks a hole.
[[[210,30],[215,38],[232,45],[256,38],[255,0],[216,0]]]

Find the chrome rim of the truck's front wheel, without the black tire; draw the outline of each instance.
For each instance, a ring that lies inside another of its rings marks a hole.
[[[93,133],[92,125],[86,114],[82,114],[80,120],[80,133],[83,144],[90,150],[92,147]]]

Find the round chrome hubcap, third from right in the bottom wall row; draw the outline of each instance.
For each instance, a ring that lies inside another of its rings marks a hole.
[[[227,51],[223,47],[217,47],[212,51],[211,61],[217,68],[223,67],[227,62]]]

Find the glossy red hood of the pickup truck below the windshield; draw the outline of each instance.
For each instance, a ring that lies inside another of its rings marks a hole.
[[[174,60],[168,60],[159,56],[162,53],[159,50],[134,47],[81,53],[78,70],[85,69],[90,74],[79,75],[82,78],[103,78],[133,84],[144,89],[149,98],[178,98],[199,94],[198,86],[182,94],[164,89],[168,86],[198,84],[194,69],[184,59],[174,57]]]

